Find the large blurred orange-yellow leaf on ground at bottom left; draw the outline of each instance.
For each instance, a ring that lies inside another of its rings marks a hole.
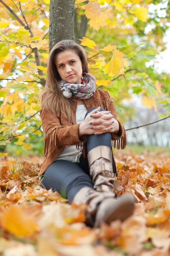
[[[28,237],[35,233],[38,225],[21,205],[11,205],[0,216],[1,225],[17,237]]]

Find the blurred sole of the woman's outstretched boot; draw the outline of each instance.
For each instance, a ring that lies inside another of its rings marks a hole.
[[[97,211],[94,227],[99,227],[102,222],[109,224],[111,221],[119,219],[126,220],[133,214],[135,200],[132,195],[122,195],[104,200]]]

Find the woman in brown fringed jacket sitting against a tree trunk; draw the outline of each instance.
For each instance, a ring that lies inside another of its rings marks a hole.
[[[42,184],[68,198],[69,204],[88,204],[86,224],[92,227],[128,218],[134,200],[132,195],[115,198],[111,149],[111,141],[125,148],[125,129],[108,92],[96,90],[82,46],[63,40],[51,49],[41,98]]]

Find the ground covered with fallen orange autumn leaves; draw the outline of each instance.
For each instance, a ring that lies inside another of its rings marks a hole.
[[[169,256],[170,153],[115,153],[120,193],[132,193],[134,214],[86,227],[86,206],[67,204],[40,186],[40,163],[0,157],[0,255]]]

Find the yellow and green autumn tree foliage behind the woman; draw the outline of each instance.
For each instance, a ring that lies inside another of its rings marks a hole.
[[[49,0],[0,0],[0,145],[33,148],[43,136],[38,97],[46,79],[49,51]],[[166,49],[170,10],[162,0],[77,0],[77,35],[88,54],[97,87],[113,97],[121,121],[134,111],[124,106],[133,94],[148,108],[170,111],[170,77],[155,70],[157,54]],[[158,113],[159,114],[159,113]],[[161,116],[159,114],[159,116]],[[43,144],[42,144],[43,145]]]

